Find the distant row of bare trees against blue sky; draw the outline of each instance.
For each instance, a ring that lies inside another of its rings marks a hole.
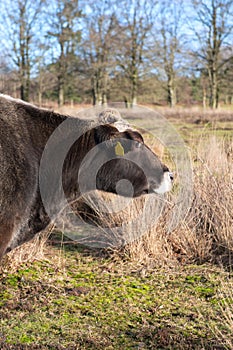
[[[0,91],[45,101],[233,103],[229,0],[7,0]]]

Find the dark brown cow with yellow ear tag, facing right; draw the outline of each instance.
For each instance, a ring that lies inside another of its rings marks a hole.
[[[55,141],[49,147],[51,139]],[[136,197],[172,187],[173,175],[139,132],[119,131],[114,124],[99,125],[0,95],[0,259],[53,219],[48,203],[56,207],[60,198],[59,180],[54,179],[67,142],[61,172],[67,202],[96,189]],[[50,158],[45,156],[48,149]],[[118,186],[122,180],[131,186]]]

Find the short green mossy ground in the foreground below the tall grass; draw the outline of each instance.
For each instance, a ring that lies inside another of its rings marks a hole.
[[[62,266],[35,262],[1,277],[1,349],[213,349],[220,345],[214,329],[227,332],[219,290],[231,277],[220,269],[141,276],[74,250],[63,259]]]

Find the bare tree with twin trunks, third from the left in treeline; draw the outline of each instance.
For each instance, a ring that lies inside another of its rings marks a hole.
[[[115,69],[114,52],[118,22],[116,2],[112,0],[89,3],[91,14],[86,17],[86,38],[83,53],[91,81],[94,105],[107,103],[109,76]]]

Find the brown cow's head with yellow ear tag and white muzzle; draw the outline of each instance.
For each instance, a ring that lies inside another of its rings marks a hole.
[[[96,176],[97,189],[134,197],[171,190],[172,173],[139,132],[101,125],[94,129],[94,139],[104,157]]]

